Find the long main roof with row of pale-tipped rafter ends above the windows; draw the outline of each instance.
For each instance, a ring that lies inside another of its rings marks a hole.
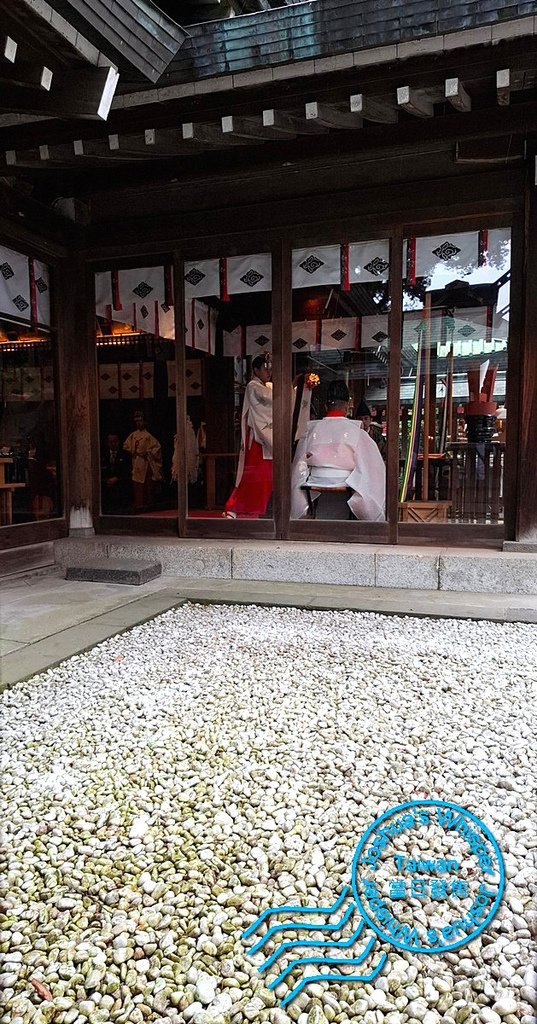
[[[56,40],[57,77],[65,80],[55,96],[27,87],[18,90],[26,105],[17,105],[18,96],[4,105],[12,93],[0,90],[0,173],[39,178],[42,195],[84,196],[170,173],[198,180],[216,173],[216,165],[234,173],[244,163],[270,168],[297,155],[324,158],[334,151],[334,135],[340,159],[382,153],[390,160],[426,139],[429,160],[443,148],[456,167],[520,163],[525,139],[537,130],[537,18],[528,13],[537,13],[537,0],[307,0],[193,26],[151,87],[130,57],[118,54],[118,68],[131,71],[106,124],[97,119],[96,79],[110,74],[112,42],[105,56],[95,24],[94,43],[81,31],[82,8],[104,18],[104,0],[10,2],[10,11],[27,14],[57,8],[42,33],[42,62],[53,59],[57,19],[74,33]],[[109,0],[115,17],[127,6],[159,13],[149,0]],[[119,31],[117,20],[99,24],[102,33]],[[170,46],[166,26],[163,33],[162,45]],[[132,56],[134,42],[127,42]],[[136,47],[144,52],[139,40]],[[93,94],[88,85],[76,87],[88,71]],[[92,110],[84,108],[88,101]]]

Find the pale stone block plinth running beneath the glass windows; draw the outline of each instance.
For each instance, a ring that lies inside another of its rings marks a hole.
[[[537,554],[471,548],[175,538],[64,538],[54,544],[67,569],[95,559],[158,561],[166,575],[338,584],[403,590],[537,595]]]

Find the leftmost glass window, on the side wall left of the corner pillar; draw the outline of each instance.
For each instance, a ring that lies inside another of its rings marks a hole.
[[[49,269],[0,247],[0,525],[61,514]]]

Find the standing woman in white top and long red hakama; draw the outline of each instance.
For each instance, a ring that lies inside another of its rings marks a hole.
[[[223,512],[231,519],[258,519],[273,493],[273,385],[262,356],[254,359],[253,372],[244,395],[235,490]]]

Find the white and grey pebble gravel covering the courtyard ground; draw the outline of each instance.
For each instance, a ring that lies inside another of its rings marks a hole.
[[[191,604],[5,691],[0,1024],[530,1024],[536,681],[533,626]],[[424,797],[500,844],[492,925],[282,1010],[243,930]]]

